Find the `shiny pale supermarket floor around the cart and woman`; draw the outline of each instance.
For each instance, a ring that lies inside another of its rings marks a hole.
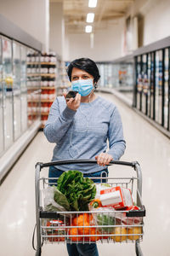
[[[122,160],[138,160],[143,172],[144,256],[170,255],[170,141],[115,96],[102,94],[115,102],[122,115],[126,153]],[[35,224],[34,172],[37,161],[51,160],[54,144],[42,132],[26,148],[20,160],[0,186],[0,255],[35,255],[31,247]],[[116,175],[118,169],[112,167]],[[44,171],[42,175],[47,175]],[[126,176],[126,173],[123,175]],[[67,255],[65,245],[44,245],[42,255]],[[135,255],[134,243],[99,244],[100,256]]]

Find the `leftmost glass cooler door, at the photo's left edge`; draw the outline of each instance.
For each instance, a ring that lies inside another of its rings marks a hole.
[[[3,129],[5,149],[13,143],[12,42],[3,38]]]

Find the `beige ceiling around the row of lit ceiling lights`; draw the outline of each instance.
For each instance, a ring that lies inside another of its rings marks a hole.
[[[50,0],[63,3],[65,29],[68,32],[84,33],[86,25],[93,25],[93,32],[115,24],[117,19],[126,15],[134,0],[98,0],[96,8],[88,8],[88,0]],[[94,23],[87,23],[88,13],[94,13]]]

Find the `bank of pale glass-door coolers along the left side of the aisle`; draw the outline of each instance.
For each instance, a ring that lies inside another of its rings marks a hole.
[[[39,69],[36,70],[37,73],[31,73],[31,76],[26,73],[27,55],[32,52],[39,57],[38,51],[4,36],[0,36],[0,46],[0,154],[3,154],[28,127],[30,119],[27,115],[27,93],[30,92],[30,80],[37,87],[31,88],[31,99],[36,98],[36,110],[31,113],[29,125],[40,119],[41,77]]]

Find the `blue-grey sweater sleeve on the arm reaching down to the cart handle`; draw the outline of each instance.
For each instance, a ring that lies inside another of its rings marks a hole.
[[[119,160],[124,154],[126,142],[123,138],[122,119],[117,108],[111,114],[108,139],[110,149],[107,153],[112,155],[113,160]]]

